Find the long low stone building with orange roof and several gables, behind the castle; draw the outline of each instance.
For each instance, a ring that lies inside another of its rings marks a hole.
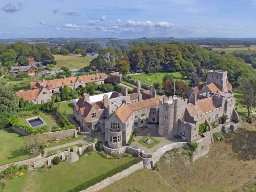
[[[39,89],[41,86],[45,87],[52,94],[59,93],[60,87],[64,87],[67,85],[72,90],[76,90],[78,87],[85,87],[87,83],[95,82],[97,84],[103,84],[106,78],[105,73],[96,73],[92,75],[82,75],[82,76],[74,76],[71,74],[71,77],[64,77],[61,79],[52,79],[52,80],[42,80],[38,82],[31,82],[30,89]]]

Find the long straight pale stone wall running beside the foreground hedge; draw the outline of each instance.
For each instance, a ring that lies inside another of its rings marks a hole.
[[[139,163],[132,165],[131,167],[129,167],[128,169],[125,169],[123,171],[121,171],[120,173],[117,173],[111,177],[108,177],[106,179],[104,179],[101,182],[98,182],[97,184],[82,190],[81,192],[96,192],[99,191],[105,187],[108,187],[109,185],[113,184],[114,182],[121,180],[124,177],[129,176],[129,174],[136,172],[140,169],[143,169],[143,162],[140,161]],[[118,191],[118,190],[117,190]]]

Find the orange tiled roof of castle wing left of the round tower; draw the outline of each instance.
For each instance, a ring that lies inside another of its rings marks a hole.
[[[143,101],[136,102],[136,103],[131,103],[129,105],[125,105],[125,103],[123,103],[115,111],[115,113],[118,116],[118,118],[122,121],[122,123],[125,123],[125,121],[129,118],[129,116],[131,116],[131,114],[134,111],[138,111],[140,109],[146,109],[146,108],[158,106],[159,105],[159,100],[164,98],[164,97],[165,97],[165,95],[161,95],[159,97],[143,100]]]

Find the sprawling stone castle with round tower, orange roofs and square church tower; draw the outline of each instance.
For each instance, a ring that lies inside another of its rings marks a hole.
[[[110,148],[125,146],[133,131],[150,122],[158,124],[158,134],[161,136],[179,136],[184,141],[194,142],[202,138],[199,135],[200,124],[206,123],[212,128],[221,123],[223,116],[226,116],[226,122],[238,120],[231,87],[227,72],[221,70],[208,71],[207,82],[200,86],[200,89],[198,86],[191,89],[189,99],[176,95],[169,98],[165,95],[156,97],[152,86],[148,92],[143,93],[143,98],[138,82],[137,89],[133,90],[136,91],[136,99],[121,93],[112,98],[113,101],[104,97],[100,107],[97,103],[89,103],[92,106],[87,106],[84,98],[80,98],[74,107],[74,116],[78,120],[82,119],[83,128],[88,123],[84,114],[89,115],[89,123],[91,118],[94,118],[94,129],[90,127],[86,131],[101,127]]]

